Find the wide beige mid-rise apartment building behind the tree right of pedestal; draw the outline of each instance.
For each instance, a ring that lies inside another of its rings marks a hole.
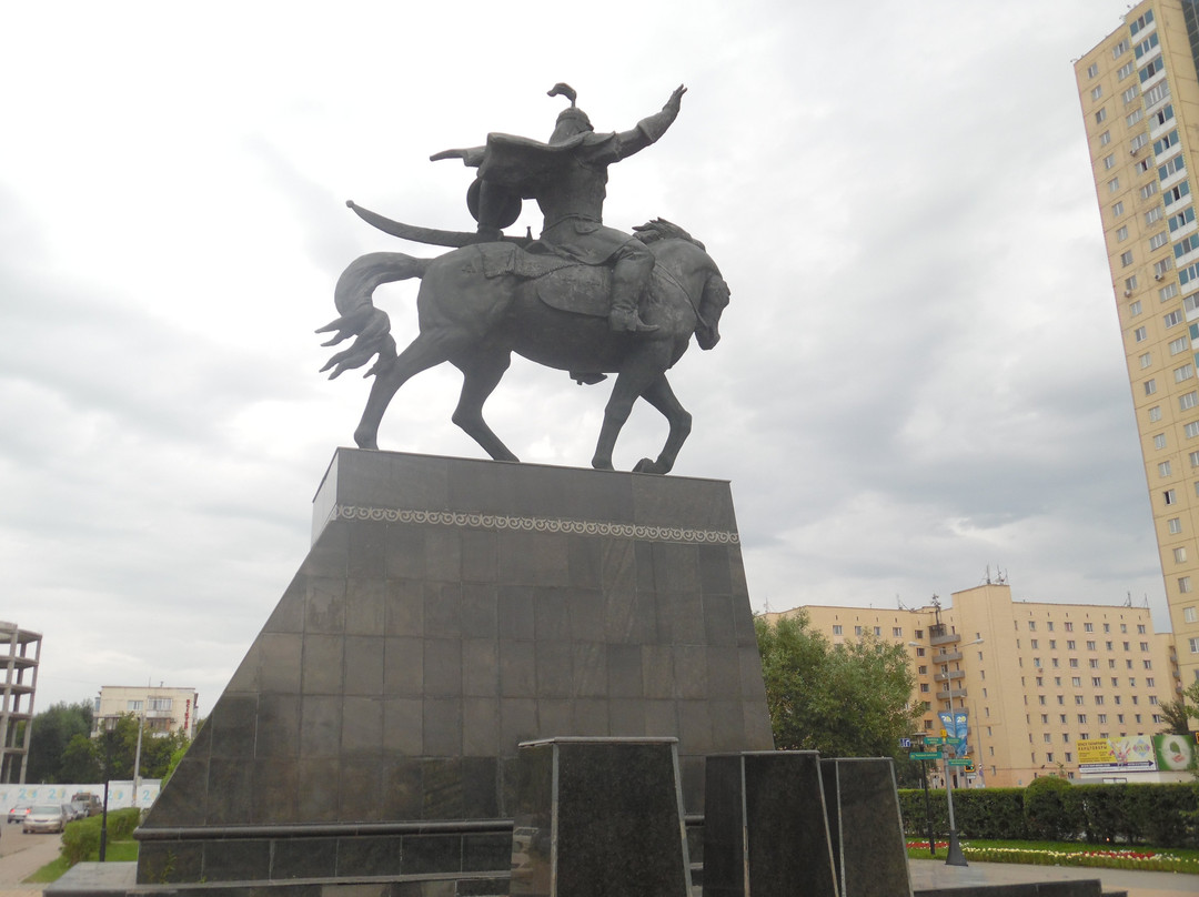
[[[965,710],[975,772],[954,775],[956,787],[1077,778],[1077,741],[1161,732],[1161,705],[1177,697],[1174,638],[1153,632],[1146,608],[1012,601],[1000,583],[953,592],[947,607],[809,604],[767,619],[801,610],[835,644],[904,645],[923,733],[941,734],[941,711]]]

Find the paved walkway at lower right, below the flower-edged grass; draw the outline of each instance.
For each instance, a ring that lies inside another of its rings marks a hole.
[[[971,862],[946,866],[945,860],[909,860],[915,891],[966,885],[1008,885],[1025,881],[1099,879],[1104,891],[1127,891],[1128,897],[1181,897],[1199,895],[1199,875],[1135,869],[1092,869],[1077,866],[1020,866],[1008,862]]]

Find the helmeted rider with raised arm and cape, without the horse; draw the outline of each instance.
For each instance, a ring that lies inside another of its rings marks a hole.
[[[478,168],[468,205],[478,222],[480,241],[500,240],[501,228],[520,213],[520,200],[536,199],[544,216],[541,243],[547,251],[584,265],[611,267],[608,326],[652,331],[655,326],[643,323],[637,308],[653,271],[653,255],[635,236],[604,227],[608,165],[656,143],[679,115],[686,92],[686,88],[677,88],[662,112],[643,119],[632,131],[597,134],[586,113],[576,106],[574,89],[556,84],[549,96],[565,96],[571,104],[558,116],[548,144],[488,134],[484,146],[446,150],[432,158],[460,158]],[[530,251],[538,248],[534,243]]]

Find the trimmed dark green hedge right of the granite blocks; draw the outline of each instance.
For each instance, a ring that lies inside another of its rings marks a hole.
[[[904,833],[924,838],[924,791],[899,791]],[[948,832],[944,789],[929,790],[934,837]],[[1199,784],[1087,784],[1038,778],[1026,788],[954,789],[953,815],[963,838],[1086,841],[1199,847]]]

